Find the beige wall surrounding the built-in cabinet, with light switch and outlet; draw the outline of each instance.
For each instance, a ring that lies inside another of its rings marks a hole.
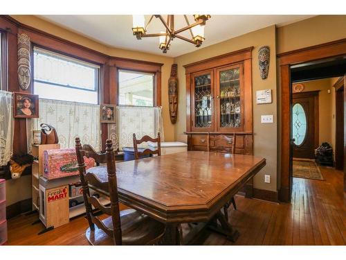
[[[269,75],[266,80],[260,77],[258,69],[257,52],[260,46],[268,45],[271,49],[271,61]],[[275,63],[275,26],[269,26],[253,33],[248,33],[219,44],[214,44],[192,53],[181,55],[174,59],[178,64],[179,77],[179,115],[175,125],[175,137],[179,141],[186,141],[183,132],[186,130],[186,85],[185,69],[183,65],[197,62],[206,58],[237,51],[249,46],[253,49],[253,132],[254,132],[254,153],[266,158],[266,166],[254,177],[254,186],[259,189],[276,191],[277,176],[277,123],[276,123],[276,63]],[[272,89],[273,103],[257,105],[255,102],[256,90]],[[260,123],[262,114],[273,114],[274,123]],[[271,183],[264,183],[264,173],[271,175]]]

